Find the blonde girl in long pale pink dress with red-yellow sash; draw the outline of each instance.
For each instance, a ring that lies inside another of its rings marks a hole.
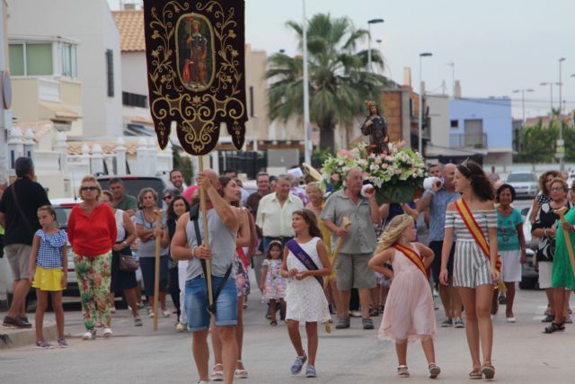
[[[416,235],[410,216],[396,216],[385,228],[377,247],[378,253],[369,261],[369,267],[382,274],[389,274],[383,263],[392,263],[394,268],[379,337],[395,342],[399,360],[397,374],[402,378],[410,376],[407,342],[421,339],[429,363],[429,377],[435,379],[441,370],[435,364],[435,311],[426,274],[434,254],[427,246],[411,243]]]

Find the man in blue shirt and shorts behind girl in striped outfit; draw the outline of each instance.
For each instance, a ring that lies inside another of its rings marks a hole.
[[[418,210],[429,209],[429,248],[435,253],[433,263],[431,263],[431,274],[433,281],[439,291],[441,303],[446,312],[446,319],[440,324],[441,326],[456,326],[463,328],[464,322],[461,319],[461,298],[459,293],[453,287],[453,259],[455,245],[451,247],[447,271],[449,272],[449,285],[439,284],[439,272],[441,272],[441,249],[443,248],[443,238],[445,237],[446,210],[447,204],[459,199],[460,195],[456,192],[454,179],[456,177],[456,165],[447,164],[439,165],[444,183],[441,186],[434,184],[430,190],[423,193],[418,201]]]

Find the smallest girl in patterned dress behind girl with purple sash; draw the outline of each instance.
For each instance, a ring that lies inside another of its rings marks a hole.
[[[276,302],[279,301],[281,313],[286,313],[286,281],[281,276],[281,254],[284,250],[282,244],[274,240],[268,248],[268,255],[261,264],[261,291],[266,299],[270,300],[270,326],[277,326]]]

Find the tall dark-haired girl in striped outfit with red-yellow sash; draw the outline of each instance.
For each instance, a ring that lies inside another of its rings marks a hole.
[[[467,319],[465,332],[473,362],[469,378],[481,380],[485,376],[485,379],[492,379],[495,369],[491,364],[491,297],[493,283],[500,278],[494,192],[482,167],[469,160],[457,165],[455,186],[462,198],[447,205],[439,281],[447,284],[447,260],[455,232],[453,279]],[[480,340],[483,363],[479,354]]]

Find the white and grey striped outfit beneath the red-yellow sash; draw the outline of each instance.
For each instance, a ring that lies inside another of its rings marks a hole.
[[[495,210],[472,210],[472,213],[489,243],[488,228],[497,228]],[[490,261],[465,227],[459,212],[447,210],[446,228],[454,228],[456,238],[453,285],[475,288],[482,284],[492,284]]]

